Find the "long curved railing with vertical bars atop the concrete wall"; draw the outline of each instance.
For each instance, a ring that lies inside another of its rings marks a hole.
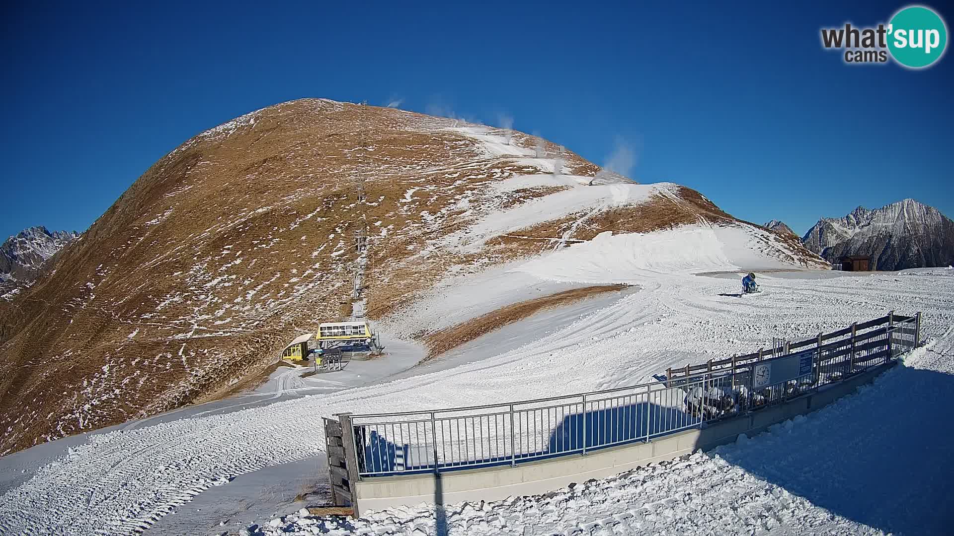
[[[920,313],[889,314],[811,340],[786,341],[779,351],[783,353],[772,358],[733,359],[725,361],[732,362],[731,367],[715,368],[710,361],[700,365],[706,367],[703,372],[630,387],[524,402],[352,415],[348,422],[358,474],[519,464],[649,442],[791,400],[891,361],[917,345],[920,321]]]

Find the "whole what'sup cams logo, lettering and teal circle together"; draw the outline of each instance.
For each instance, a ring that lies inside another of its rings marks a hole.
[[[936,11],[923,6],[899,10],[876,28],[822,28],[821,46],[841,49],[845,63],[886,63],[893,58],[903,67],[934,65],[947,48],[947,25]]]

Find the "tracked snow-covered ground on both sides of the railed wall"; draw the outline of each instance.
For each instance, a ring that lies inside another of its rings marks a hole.
[[[723,244],[731,242],[716,238]],[[68,438],[40,445],[45,449],[44,464],[23,478],[7,481],[11,484],[0,495],[0,533],[129,534],[171,512],[184,515],[187,508],[203,501],[205,493],[230,496],[218,488],[204,491],[213,486],[224,486],[224,490],[264,485],[248,473],[265,467],[274,473],[277,466],[316,459],[324,445],[321,417],[337,412],[478,404],[631,384],[648,380],[667,366],[748,352],[779,335],[810,337],[891,309],[904,314],[923,311],[923,334],[937,342],[931,351],[911,358],[909,366],[890,373],[864,393],[715,455],[697,454],[679,464],[635,471],[544,498],[487,505],[490,511],[481,505],[449,506],[451,533],[549,534],[579,529],[588,534],[667,530],[673,534],[809,530],[919,534],[930,533],[937,526],[931,524],[944,521],[939,516],[949,508],[941,506],[950,494],[938,486],[954,475],[944,461],[949,447],[935,441],[938,432],[931,426],[944,423],[952,394],[948,379],[954,344],[949,333],[954,320],[954,270],[826,279],[766,274],[759,277],[765,292],[736,298],[720,295],[736,293],[737,279],[693,275],[694,271],[748,269],[757,260],[738,258],[731,247],[721,249],[722,258],[684,257],[677,266],[662,271],[618,253],[632,250],[604,247],[597,240],[582,246],[602,248],[599,255],[618,259],[608,259],[607,269],[600,270],[589,262],[594,255],[591,250],[573,246],[512,266],[500,278],[487,279],[487,284],[506,287],[508,278],[532,276],[540,284],[623,281],[637,284],[639,290],[600,302],[600,307],[575,320],[554,322],[552,329],[541,329],[532,344],[510,346],[479,362],[425,369],[412,376],[404,373],[399,379],[360,389],[294,400],[277,398],[247,409],[200,416],[183,413],[174,419],[158,418],[128,429],[120,426],[89,434],[85,441]],[[628,243],[626,247],[642,246]],[[574,250],[579,253],[571,257]],[[572,266],[576,269],[568,268]],[[492,300],[492,286],[482,288]],[[482,288],[463,295],[479,296]],[[430,316],[421,315],[419,321],[439,317],[435,310]],[[414,329],[413,323],[405,322],[404,328]],[[900,444],[910,444],[900,442],[902,433],[923,440],[918,443],[923,445],[920,450],[910,446],[901,450]],[[0,459],[0,475],[20,469],[21,462],[31,459],[32,450]],[[885,464],[893,465],[885,468]],[[883,482],[871,475],[879,475]],[[922,490],[930,497],[918,499]],[[284,493],[291,498],[300,491]],[[197,503],[186,505],[197,495]],[[219,526],[226,520],[218,514],[204,517],[191,511],[189,523],[196,525],[190,529],[189,524],[178,523],[180,533],[236,532],[250,525],[230,519],[227,526]],[[293,517],[279,518],[272,527],[260,510],[254,514],[262,516],[258,522],[262,531],[274,533],[288,527],[298,533],[321,533],[330,529],[321,520]],[[385,511],[343,529],[431,532],[427,527],[433,525],[432,515],[427,507]]]

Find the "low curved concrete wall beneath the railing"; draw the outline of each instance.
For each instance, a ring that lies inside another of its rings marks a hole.
[[[888,361],[851,379],[827,385],[818,392],[792,401],[709,423],[702,429],[684,430],[655,438],[649,443],[629,443],[591,451],[585,456],[563,456],[516,466],[445,471],[439,477],[426,473],[364,478],[355,486],[355,514],[400,505],[435,503],[438,493],[443,504],[498,501],[512,495],[535,495],[571,483],[612,476],[653,462],[673,460],[691,454],[696,449],[708,450],[720,444],[732,443],[739,434],[758,434],[772,424],[819,409],[870,383],[895,364],[897,361]]]

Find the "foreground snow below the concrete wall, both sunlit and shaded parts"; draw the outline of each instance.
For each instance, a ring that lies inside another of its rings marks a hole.
[[[423,505],[371,512],[346,528],[301,512],[249,533],[949,534],[949,448],[912,442],[934,438],[910,417],[944,421],[954,395],[952,348],[948,332],[859,393],[710,453],[542,496],[447,505],[443,531],[434,507]],[[899,403],[912,390],[917,401]]]

